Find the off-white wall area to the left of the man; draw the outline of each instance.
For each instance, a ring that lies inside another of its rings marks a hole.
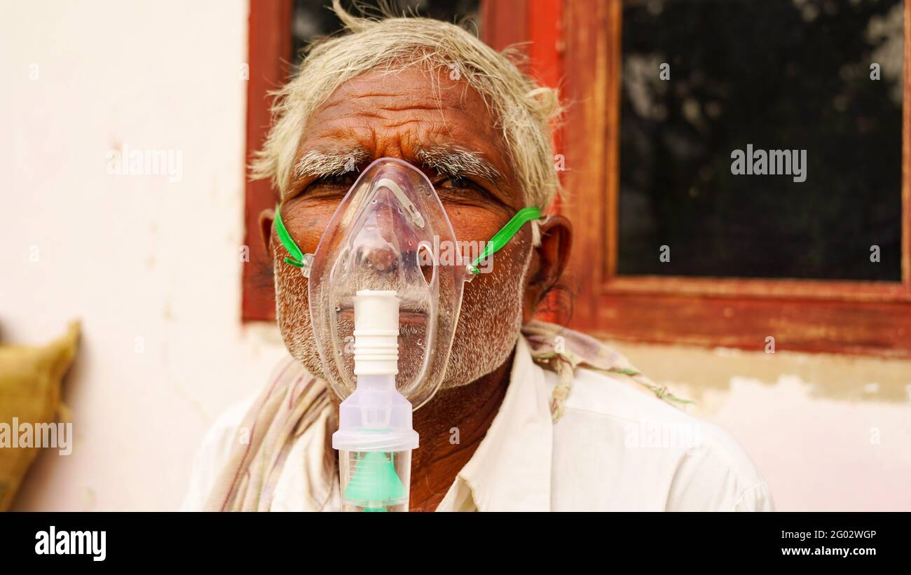
[[[176,508],[210,421],[283,353],[240,321],[247,15],[0,4],[0,341],[83,327],[75,449],[43,453],[15,509]],[[182,180],[108,175],[123,144],[180,151]]]

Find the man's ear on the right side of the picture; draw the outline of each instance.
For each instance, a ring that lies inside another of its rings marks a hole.
[[[539,229],[541,245],[535,248],[537,272],[528,280],[525,290],[523,323],[531,321],[537,305],[563,275],[569,263],[569,248],[572,246],[572,224],[566,217],[550,216],[539,225]]]

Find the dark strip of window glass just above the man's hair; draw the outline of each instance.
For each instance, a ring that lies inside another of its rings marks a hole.
[[[387,0],[385,5],[395,14],[421,15],[445,20],[476,31],[480,35],[479,0]],[[365,9],[365,15],[378,15],[377,0],[357,0],[356,5]],[[350,14],[360,15],[353,0],[343,0],[342,5]],[[331,0],[294,0],[292,19],[294,34],[294,64],[299,64],[301,50],[313,40],[342,29],[342,23],[333,13]]]

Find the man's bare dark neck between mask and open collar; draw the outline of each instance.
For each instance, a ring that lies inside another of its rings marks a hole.
[[[415,411],[421,447],[412,452],[412,511],[433,511],[475,454],[506,396],[515,350],[499,368],[458,388],[440,389]],[[333,400],[336,420],[338,404]]]

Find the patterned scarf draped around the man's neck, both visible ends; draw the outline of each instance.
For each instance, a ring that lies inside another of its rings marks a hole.
[[[675,398],[643,376],[622,355],[595,338],[561,326],[532,321],[522,327],[532,358],[542,368],[558,374],[550,411],[554,421],[563,415],[563,404],[572,390],[578,367],[621,374],[637,388],[673,403]],[[312,377],[292,358],[282,362],[271,384],[244,417],[230,456],[206,500],[210,511],[266,511],[288,453],[297,438],[330,406],[325,383]]]

